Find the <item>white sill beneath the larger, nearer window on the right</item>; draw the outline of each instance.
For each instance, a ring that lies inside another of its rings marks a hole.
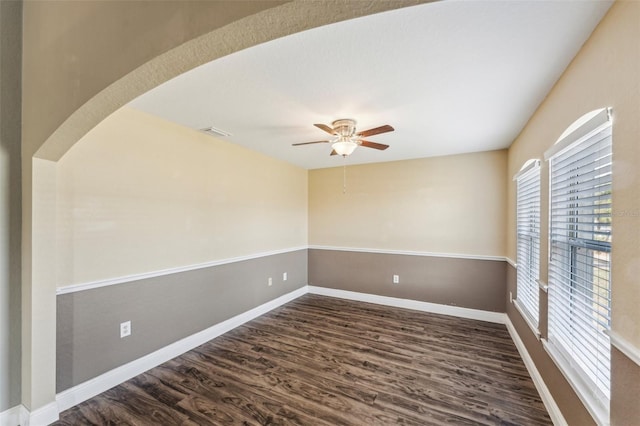
[[[553,343],[542,339],[542,347],[547,352],[553,363],[558,367],[564,378],[569,382],[582,404],[584,404],[591,417],[598,425],[609,425],[609,403],[604,403],[592,391],[592,386],[587,384],[582,375],[577,372]]]

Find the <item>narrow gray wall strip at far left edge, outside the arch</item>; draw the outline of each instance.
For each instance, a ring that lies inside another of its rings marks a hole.
[[[20,404],[22,2],[0,1],[0,413]]]

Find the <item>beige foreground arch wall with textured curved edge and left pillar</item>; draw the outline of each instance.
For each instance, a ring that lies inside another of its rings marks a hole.
[[[198,65],[313,27],[424,2],[89,2],[80,8],[72,1],[25,4],[21,399],[32,423],[57,418],[56,162],[105,117]],[[207,4],[213,6],[206,9]],[[134,5],[139,14],[140,20],[134,20],[139,28],[132,30],[142,35],[134,40],[142,43],[137,56],[129,49],[118,51],[123,40],[117,32],[130,30],[128,17],[119,10],[127,7],[123,5]],[[65,17],[66,9],[74,11],[72,17]],[[154,22],[158,16],[166,19]],[[207,17],[212,18],[208,23]],[[158,34],[154,28],[160,24],[167,27]],[[83,55],[91,56],[92,43],[99,45],[98,40],[110,36],[117,42],[103,52],[107,62],[83,63]],[[69,37],[82,40],[81,46],[61,43],[60,50],[50,49]],[[45,53],[57,58],[48,62]]]

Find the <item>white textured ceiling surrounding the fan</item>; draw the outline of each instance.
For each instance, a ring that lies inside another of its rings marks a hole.
[[[131,102],[298,166],[342,165],[313,123],[354,118],[386,151],[349,164],[508,147],[609,1],[442,1],[332,24],[236,52]],[[568,123],[569,124],[569,123]],[[179,141],[176,141],[179,143]]]

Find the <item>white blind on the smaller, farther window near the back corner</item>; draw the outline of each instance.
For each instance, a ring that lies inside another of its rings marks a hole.
[[[517,297],[533,326],[538,326],[540,270],[540,162],[523,168],[516,180]]]

